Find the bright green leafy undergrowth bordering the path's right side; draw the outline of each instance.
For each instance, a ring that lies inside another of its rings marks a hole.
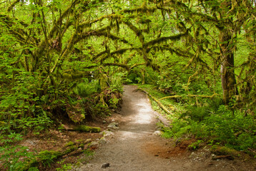
[[[153,86],[139,87],[157,99],[168,96]],[[225,146],[256,157],[255,115],[230,110],[222,105],[219,98],[204,99],[201,105],[191,103],[185,96],[182,99],[166,98],[161,103],[173,113],[167,115],[171,125],[162,128],[165,138],[196,138],[197,142],[190,145],[192,149],[200,147],[200,144],[211,145],[212,148]],[[152,106],[154,110],[164,113],[154,100]]]

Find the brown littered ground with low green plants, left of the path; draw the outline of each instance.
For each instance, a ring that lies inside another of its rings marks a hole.
[[[102,120],[94,120],[87,122],[87,125],[107,127],[111,122],[111,118],[105,118],[107,123],[102,124]],[[68,126],[68,125],[64,125]],[[2,137],[0,144],[0,170],[68,170],[71,165],[75,165],[83,157],[93,154],[93,150],[97,146],[77,147],[77,150],[68,152],[67,155],[58,155],[61,149],[73,145],[74,142],[82,142],[84,140],[95,141],[101,138],[99,133],[85,133],[79,131],[68,130],[46,130],[39,135],[28,133],[21,135],[12,133],[8,137]],[[29,165],[35,160],[34,164]],[[25,169],[26,170],[26,169]]]

